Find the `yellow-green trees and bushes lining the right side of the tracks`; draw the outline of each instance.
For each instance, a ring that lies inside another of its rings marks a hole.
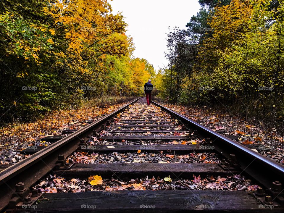
[[[169,61],[175,72],[161,72],[160,88],[176,84],[176,73],[190,62],[191,72],[183,73],[180,89],[172,94],[160,91],[159,96],[182,104],[224,104],[246,117],[274,116],[280,119],[284,109],[283,17],[284,1],[232,0],[199,1],[211,9],[191,18],[187,30],[191,39],[175,35],[185,46],[197,42],[197,53],[187,51],[182,60],[179,44],[174,45]],[[214,6],[214,9],[213,9]],[[206,17],[208,18],[206,19]],[[198,27],[207,20],[214,31],[202,34]],[[273,20],[273,21],[272,21]],[[172,39],[169,36],[169,39]]]

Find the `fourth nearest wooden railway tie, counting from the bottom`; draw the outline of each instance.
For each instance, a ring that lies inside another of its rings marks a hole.
[[[121,141],[121,140],[128,140],[128,141],[170,141],[170,140],[183,140],[183,141],[188,141],[188,140],[193,140],[193,138],[188,138],[188,137],[183,137],[183,136],[171,136],[171,135],[156,135],[156,136],[144,136],[144,135],[137,135],[137,136],[132,136],[132,135],[125,135],[125,136],[103,136],[99,139],[102,139],[104,141]]]

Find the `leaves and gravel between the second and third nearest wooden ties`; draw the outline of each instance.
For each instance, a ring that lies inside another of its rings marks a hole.
[[[139,152],[139,150],[138,150]],[[113,152],[110,154],[76,152],[67,158],[67,162],[72,163],[208,163],[216,164],[219,160],[215,153],[188,153],[186,155],[157,154],[148,152],[123,153]]]

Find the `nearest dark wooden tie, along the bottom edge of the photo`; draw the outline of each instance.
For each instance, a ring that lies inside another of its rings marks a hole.
[[[18,212],[283,212],[283,208],[259,208],[246,191],[88,191],[45,193],[36,208]]]

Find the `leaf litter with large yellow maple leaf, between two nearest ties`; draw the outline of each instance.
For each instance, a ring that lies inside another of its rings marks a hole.
[[[171,176],[152,177],[148,176],[137,179],[103,178],[100,175],[92,175],[88,179],[81,180],[49,175],[35,186],[43,193],[59,192],[85,192],[95,190],[118,191],[118,190],[227,190],[227,191],[255,191],[259,187],[245,179],[242,175],[228,177],[206,177],[202,179],[195,176],[188,179],[172,180]]]

